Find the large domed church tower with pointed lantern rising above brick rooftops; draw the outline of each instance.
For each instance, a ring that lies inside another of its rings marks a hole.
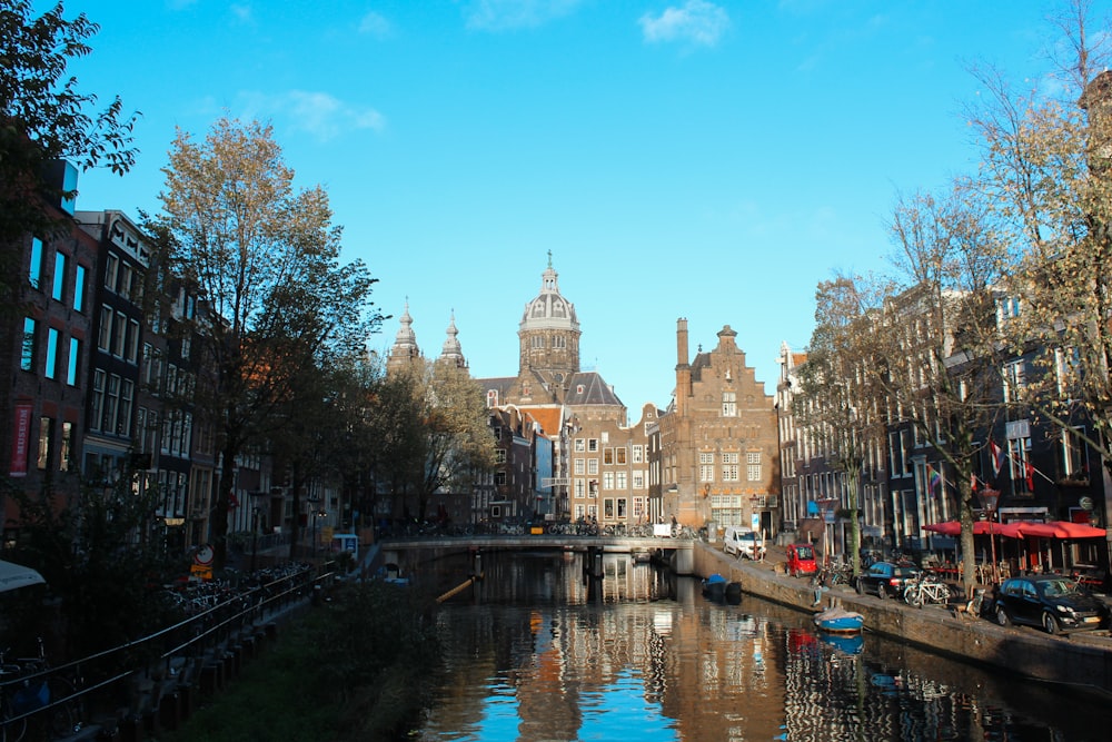
[[[579,320],[575,306],[559,293],[552,251],[542,275],[540,294],[525,305],[517,332],[520,343],[518,378],[538,379],[563,399],[573,375],[579,373]]]

